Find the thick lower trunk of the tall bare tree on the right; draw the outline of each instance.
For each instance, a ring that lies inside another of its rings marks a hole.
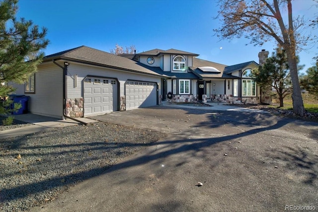
[[[290,49],[285,49],[288,58],[288,65],[290,70],[290,75],[293,83],[293,111],[298,116],[305,116],[306,110],[304,107],[302,91],[299,85],[298,71],[297,71],[297,60],[295,55],[291,54]]]

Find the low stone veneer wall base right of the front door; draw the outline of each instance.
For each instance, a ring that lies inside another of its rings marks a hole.
[[[260,103],[258,97],[233,97],[232,94],[211,94],[211,101],[212,102],[223,102],[229,104],[258,104]]]

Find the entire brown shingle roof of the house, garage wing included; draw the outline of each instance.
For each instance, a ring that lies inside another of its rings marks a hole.
[[[160,49],[153,49],[147,52],[138,53],[137,55],[159,55],[159,54],[180,54],[180,55],[192,55],[198,56],[193,53],[184,52],[175,49],[169,49],[166,51]],[[80,46],[77,48],[69,49],[63,52],[45,56],[43,61],[50,61],[54,59],[64,59],[75,62],[85,62],[92,65],[100,65],[108,68],[121,69],[125,71],[135,71],[140,73],[152,74],[157,76],[166,76],[171,78],[239,78],[231,75],[233,71],[238,71],[244,67],[255,64],[254,61],[241,63],[233,66],[227,66],[211,61],[206,61],[193,57],[193,67],[189,68],[188,72],[178,73],[171,71],[162,71],[159,67],[151,67],[138,61],[132,60],[135,54],[123,54],[121,56],[113,55],[107,52],[103,52],[97,49],[93,49],[86,46]],[[200,67],[213,67],[220,72],[202,71]]]

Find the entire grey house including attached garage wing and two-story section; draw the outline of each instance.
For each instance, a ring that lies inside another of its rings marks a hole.
[[[172,102],[260,101],[248,74],[257,63],[226,66],[197,56],[174,49],[117,56],[81,46],[46,56],[25,84],[14,84],[15,94],[30,97],[29,112],[57,118],[155,106],[167,96]]]

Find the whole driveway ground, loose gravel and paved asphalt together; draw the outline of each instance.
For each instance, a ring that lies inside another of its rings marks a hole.
[[[317,123],[159,106],[92,118],[101,122],[0,141],[3,211],[318,208]]]

